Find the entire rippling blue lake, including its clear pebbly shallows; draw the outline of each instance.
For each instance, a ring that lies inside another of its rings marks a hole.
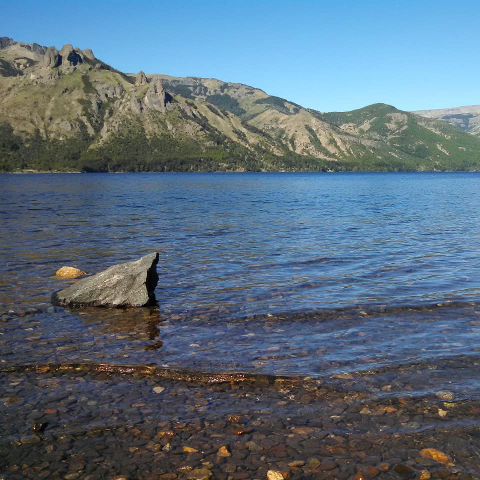
[[[4,478],[480,478],[480,173],[2,174],[0,200]],[[157,306],[50,304],[60,266],[153,251]]]

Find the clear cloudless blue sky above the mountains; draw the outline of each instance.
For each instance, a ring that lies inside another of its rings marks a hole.
[[[0,36],[125,72],[237,81],[320,111],[480,103],[480,2],[12,1]]]

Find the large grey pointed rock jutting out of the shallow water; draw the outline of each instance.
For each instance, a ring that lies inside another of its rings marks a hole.
[[[155,301],[158,252],[113,265],[54,292],[51,302],[62,306],[145,306]]]

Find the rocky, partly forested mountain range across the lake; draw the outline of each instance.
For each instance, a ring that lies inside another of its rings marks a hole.
[[[464,108],[320,112],[0,37],[0,171],[476,170],[480,106]]]

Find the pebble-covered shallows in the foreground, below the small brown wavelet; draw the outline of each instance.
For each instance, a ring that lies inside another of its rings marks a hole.
[[[479,478],[480,399],[61,368],[1,372],[0,385],[8,478]]]

